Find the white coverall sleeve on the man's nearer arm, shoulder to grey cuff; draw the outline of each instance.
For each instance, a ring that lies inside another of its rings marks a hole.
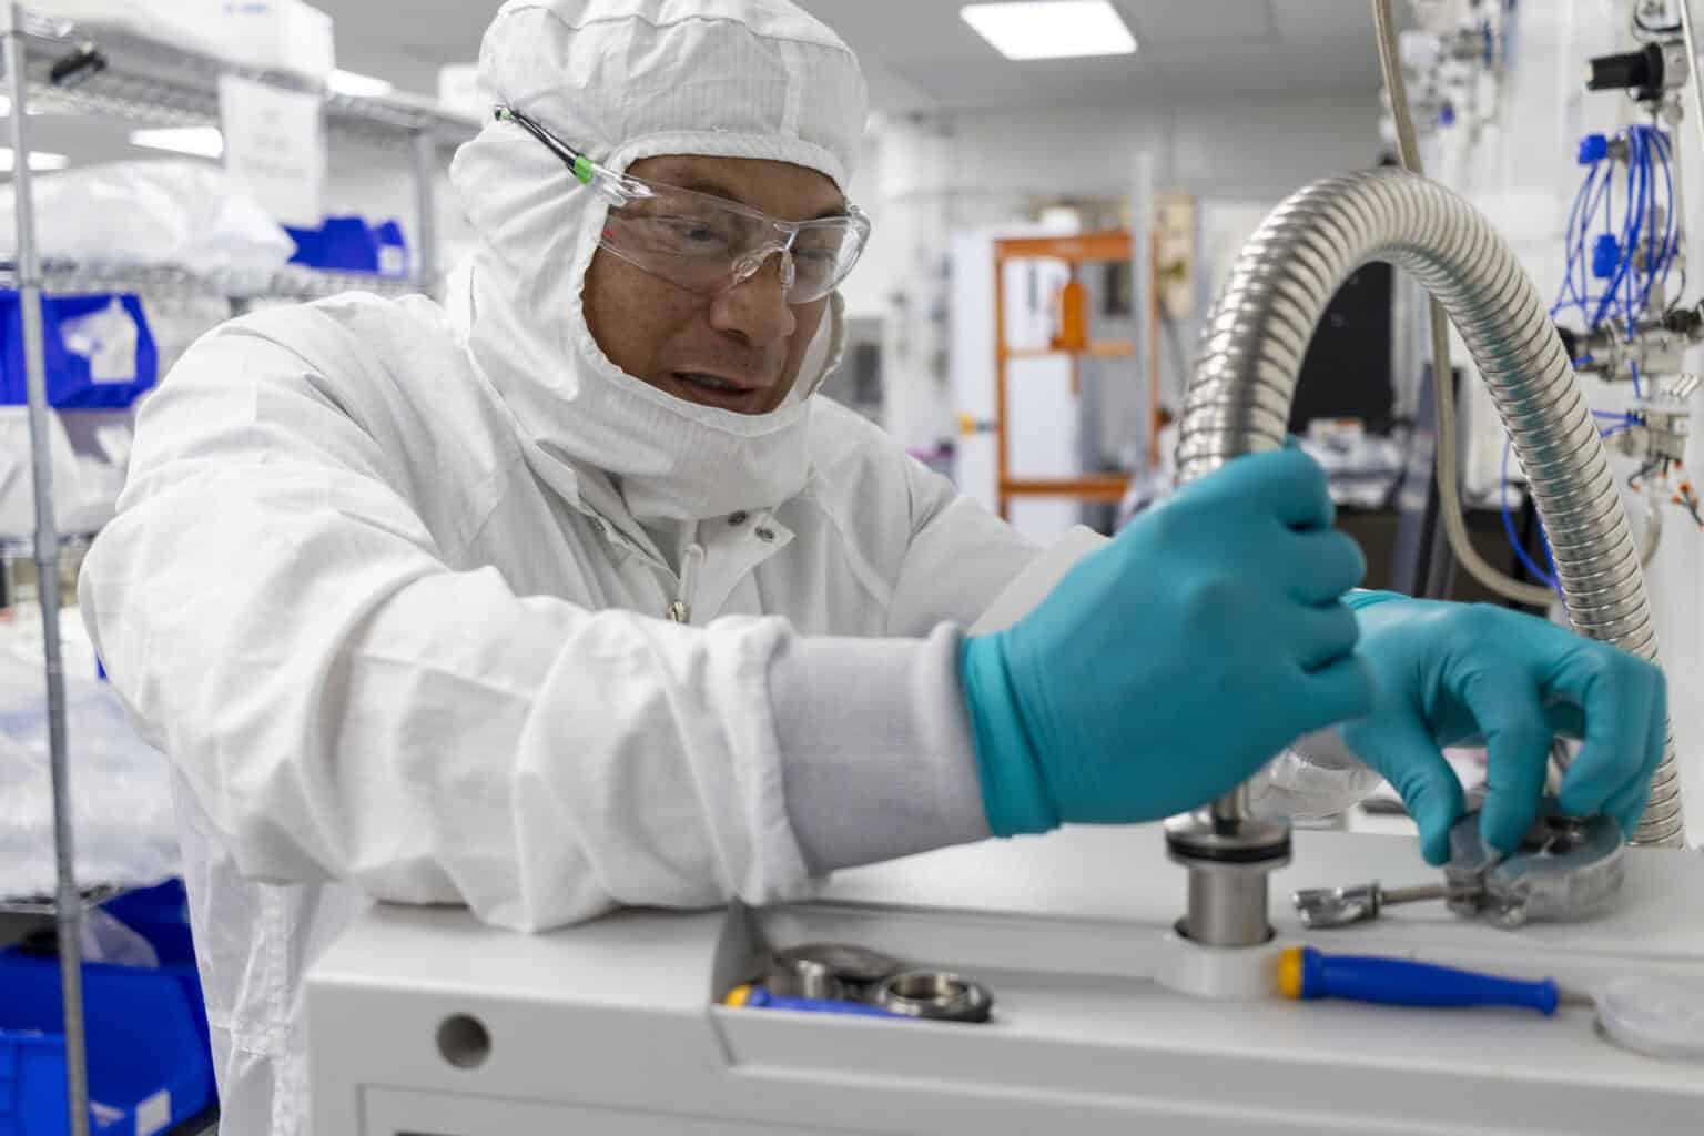
[[[112,683],[240,870],[523,930],[801,891],[770,698],[789,625],[452,571],[341,397],[252,327],[204,339],[83,567]]]

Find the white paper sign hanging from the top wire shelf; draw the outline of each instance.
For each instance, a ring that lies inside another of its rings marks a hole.
[[[225,169],[285,225],[324,220],[325,119],[319,95],[237,75],[218,80]]]

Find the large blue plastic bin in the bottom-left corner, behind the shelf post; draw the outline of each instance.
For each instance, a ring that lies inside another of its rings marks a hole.
[[[213,1071],[182,984],[121,966],[83,967],[90,1124],[153,1136],[213,1104]],[[0,955],[0,1136],[70,1131],[60,966]]]

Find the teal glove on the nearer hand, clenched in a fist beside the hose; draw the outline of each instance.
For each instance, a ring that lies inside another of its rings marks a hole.
[[[1201,806],[1372,707],[1341,603],[1365,560],[1298,450],[1237,458],[959,659],[999,836]]]

